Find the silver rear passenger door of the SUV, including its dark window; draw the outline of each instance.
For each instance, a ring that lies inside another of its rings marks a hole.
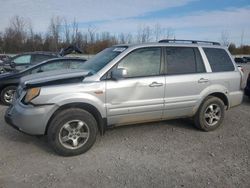
[[[209,86],[201,54],[196,47],[167,47],[163,118],[193,114],[201,92]]]

